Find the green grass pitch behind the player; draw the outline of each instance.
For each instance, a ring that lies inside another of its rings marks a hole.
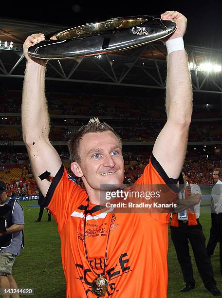
[[[52,222],[48,221],[46,210],[43,212],[42,221],[36,223],[39,208],[28,207],[36,205],[37,201],[21,202],[25,216],[25,250],[16,259],[13,266],[13,275],[19,288],[34,288],[35,298],[66,298],[66,281],[63,274],[60,258],[60,239],[57,233],[57,225],[52,217]],[[202,211],[205,207],[202,208]],[[203,225],[203,233],[206,242],[209,238],[211,226],[210,213],[202,212],[200,222]],[[168,251],[168,298],[209,298],[213,297],[203,286],[202,279],[197,271],[197,267],[190,249],[196,288],[187,293],[180,293],[184,281],[180,265],[177,261],[173,243],[169,237]],[[214,268],[215,279],[218,288],[222,290],[222,275],[220,274],[219,244],[211,258]],[[27,298],[28,296],[20,297]],[[145,298],[145,297],[144,297]],[[148,298],[148,297],[146,297]],[[161,298],[161,297],[159,297]]]

